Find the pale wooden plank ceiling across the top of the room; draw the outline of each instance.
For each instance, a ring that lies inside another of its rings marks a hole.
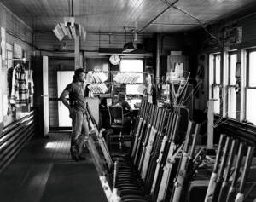
[[[71,16],[71,1],[0,0],[35,31],[51,31],[58,22],[64,22],[63,17]],[[170,33],[198,27],[254,3],[255,0],[73,0],[73,13],[87,32],[124,32],[124,26],[136,26],[137,32]]]

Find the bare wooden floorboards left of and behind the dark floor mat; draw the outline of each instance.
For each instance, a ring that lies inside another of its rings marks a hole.
[[[33,138],[0,173],[0,201],[40,202],[54,164],[92,164],[89,153],[84,154],[84,161],[73,161],[69,147],[67,132],[52,133],[49,138]]]

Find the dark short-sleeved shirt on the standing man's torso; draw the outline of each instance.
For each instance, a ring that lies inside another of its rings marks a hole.
[[[68,84],[66,89],[69,92],[70,107],[75,110],[85,111],[85,85],[79,85],[76,83]]]

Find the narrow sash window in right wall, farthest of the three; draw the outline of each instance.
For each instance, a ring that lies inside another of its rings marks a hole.
[[[221,113],[220,112],[220,106],[221,106],[221,69],[220,69],[220,60],[221,55],[220,54],[213,54],[213,63],[212,63],[212,98],[216,99],[217,101],[214,101],[214,113]]]

